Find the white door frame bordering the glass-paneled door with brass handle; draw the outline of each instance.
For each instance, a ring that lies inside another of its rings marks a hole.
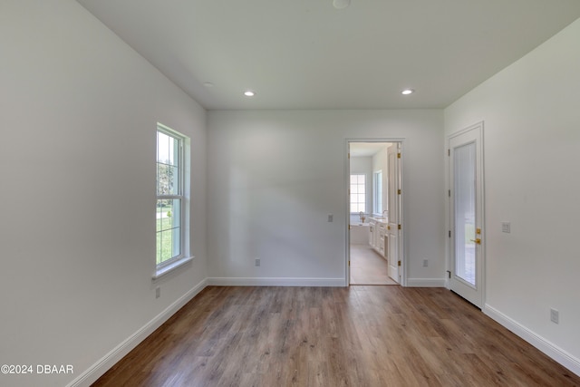
[[[449,134],[449,136],[447,137],[447,152],[448,152],[448,158],[447,158],[447,167],[448,167],[448,175],[449,175],[449,179],[448,179],[448,189],[449,189],[449,205],[448,205],[448,225],[449,225],[449,238],[448,238],[448,259],[447,259],[447,273],[449,276],[447,276],[446,278],[446,285],[447,288],[451,289],[451,276],[453,276],[453,271],[455,270],[453,267],[453,256],[455,254],[455,247],[453,246],[454,244],[454,237],[452,236],[452,228],[453,228],[453,217],[454,217],[454,203],[453,203],[453,197],[454,195],[451,192],[451,181],[452,181],[452,174],[453,174],[453,166],[451,165],[451,158],[450,156],[450,141],[462,134],[465,134],[469,131],[478,131],[478,140],[479,140],[479,144],[478,144],[478,154],[476,155],[476,162],[479,164],[478,165],[478,173],[479,173],[479,197],[480,197],[480,201],[477,204],[480,210],[480,222],[479,224],[481,225],[482,228],[482,234],[479,236],[481,239],[480,245],[479,245],[479,262],[480,262],[480,279],[479,279],[479,284],[478,284],[478,288],[481,292],[480,297],[477,300],[469,300],[469,302],[471,302],[472,304],[478,306],[478,308],[483,309],[485,302],[486,302],[486,248],[485,248],[485,242],[486,242],[486,222],[485,222],[485,188],[484,188],[484,178],[485,178],[485,173],[484,173],[484,138],[483,138],[483,134],[484,134],[484,125],[483,125],[483,121],[480,121],[478,123],[475,123],[473,125],[470,125],[469,127],[461,130],[461,131],[457,131],[454,133]]]

